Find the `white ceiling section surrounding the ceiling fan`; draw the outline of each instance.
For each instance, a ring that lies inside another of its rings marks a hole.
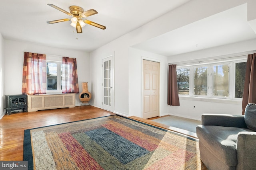
[[[98,47],[177,8],[189,0],[2,0],[0,32],[4,39],[32,42],[52,47],[93,51]],[[102,30],[85,25],[78,34],[71,21],[48,24],[46,21],[71,18],[47,4],[69,12],[76,5],[84,11],[93,8],[98,14],[86,18],[101,25]]]

